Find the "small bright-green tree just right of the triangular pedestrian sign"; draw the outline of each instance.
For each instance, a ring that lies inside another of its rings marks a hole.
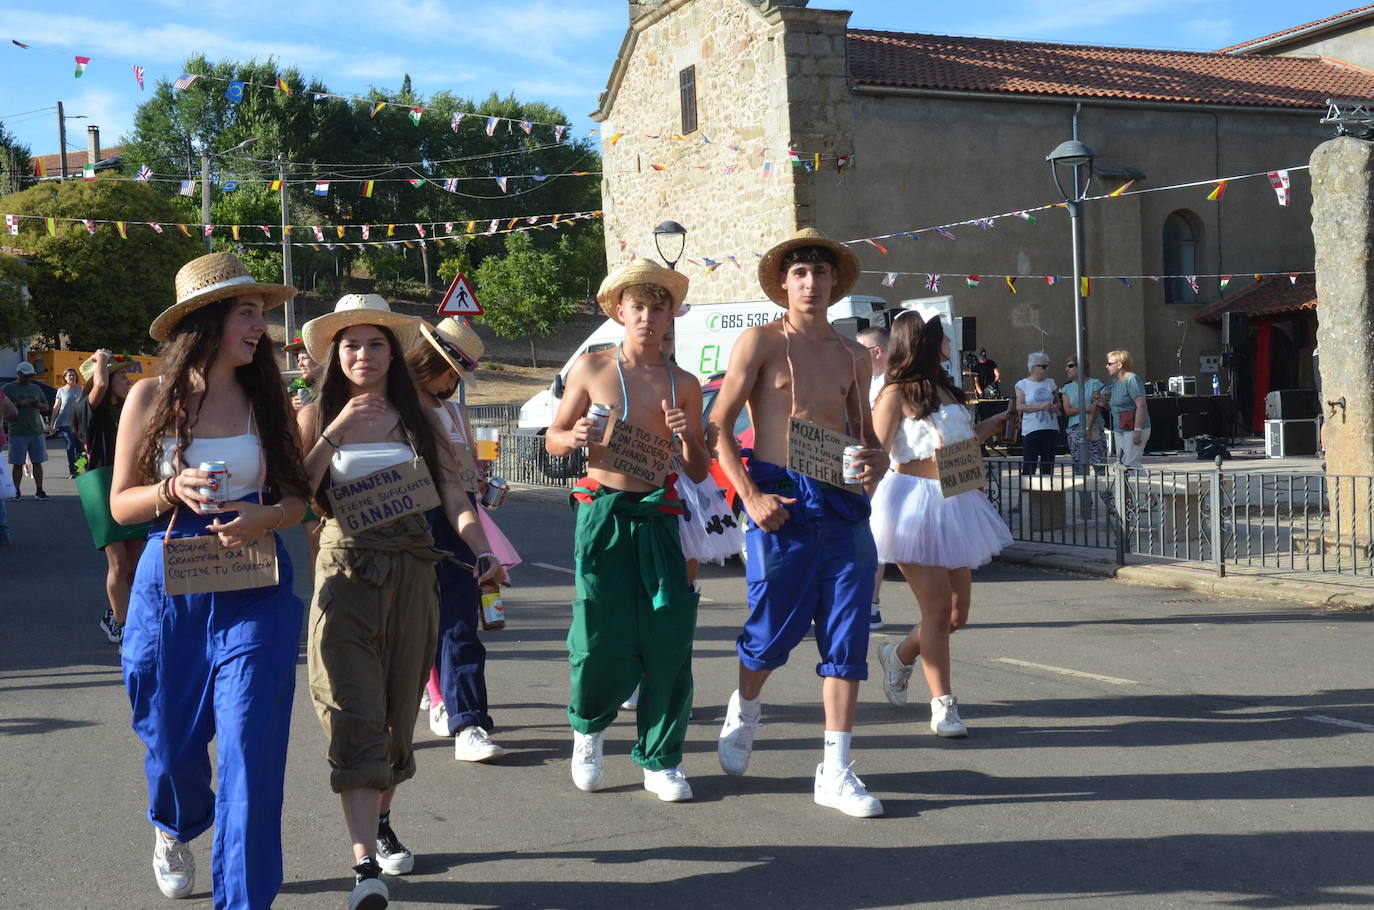
[[[504,256],[488,256],[477,267],[481,320],[502,338],[528,338],[530,364],[539,366],[534,341],[572,319],[576,287],[569,287],[562,260],[567,238],[555,252],[534,249],[529,234],[510,234]]]

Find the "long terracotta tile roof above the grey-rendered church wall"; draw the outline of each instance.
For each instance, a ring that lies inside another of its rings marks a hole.
[[[849,76],[863,85],[1316,110],[1333,96],[1374,98],[1374,73],[1312,58],[901,32],[848,37]]]

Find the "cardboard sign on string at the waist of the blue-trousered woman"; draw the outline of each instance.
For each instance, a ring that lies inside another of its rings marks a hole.
[[[249,430],[256,433],[251,411]],[[180,456],[177,465],[180,465]],[[180,473],[180,467],[177,467]],[[267,465],[258,460],[258,502],[262,500],[262,481]],[[276,587],[276,535],[265,533],[240,547],[225,547],[220,535],[173,537],[172,528],[181,506],[172,510],[162,539],[162,587],[169,595],[217,594],[247,588]]]

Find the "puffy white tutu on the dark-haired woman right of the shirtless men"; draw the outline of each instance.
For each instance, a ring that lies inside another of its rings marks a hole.
[[[938,480],[897,473],[878,484],[868,526],[879,562],[977,569],[1011,543],[981,489],[945,499]]]

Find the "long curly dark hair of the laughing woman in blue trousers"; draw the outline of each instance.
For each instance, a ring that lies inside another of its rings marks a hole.
[[[158,356],[157,395],[150,408],[148,423],[139,441],[135,466],[140,484],[155,482],[162,476],[162,440],[176,440],[172,460],[180,463],[185,450],[195,439],[195,425],[201,417],[205,396],[191,411],[187,401],[191,397],[192,378],[205,377],[210,363],[220,351],[224,334],[224,320],[238,304],[235,298],[217,300],[185,315],[162,344]],[[258,338],[251,363],[234,371],[234,378],[243,386],[253,407],[258,443],[262,445],[267,462],[268,499],[283,496],[305,496],[309,481],[301,463],[301,448],[293,432],[291,403],[286,396],[286,384],[272,352],[272,340],[264,333]]]

